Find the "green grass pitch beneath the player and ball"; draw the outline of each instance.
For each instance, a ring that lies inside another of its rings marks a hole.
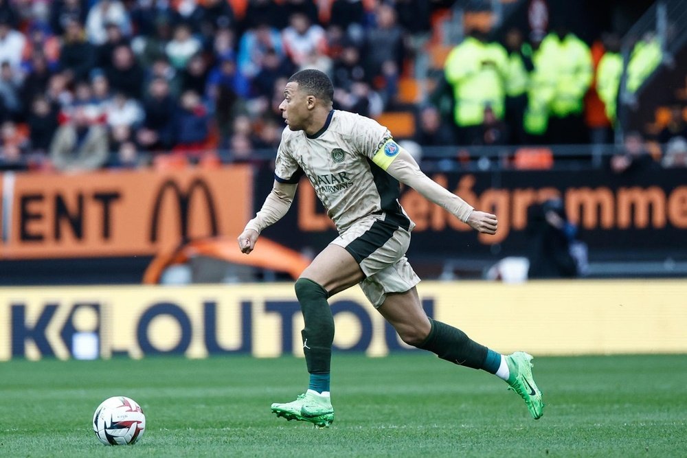
[[[2,457],[668,457],[687,453],[687,355],[535,358],[544,417],[506,384],[428,354],[333,360],[331,428],[271,402],[306,387],[304,360],[246,357],[0,363]],[[129,396],[139,444],[106,447],[93,410]]]

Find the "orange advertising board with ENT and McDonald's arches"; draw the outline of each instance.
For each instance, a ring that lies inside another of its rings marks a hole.
[[[253,211],[248,166],[5,174],[0,259],[153,255],[238,236]]]

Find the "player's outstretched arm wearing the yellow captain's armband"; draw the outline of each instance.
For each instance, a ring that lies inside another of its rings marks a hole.
[[[387,144],[390,142],[393,146],[388,148]],[[390,152],[394,152],[394,147],[398,148],[398,151],[396,154],[390,154]],[[428,201],[447,209],[449,213],[473,229],[489,234],[496,233],[498,221],[495,215],[475,210],[462,198],[430,179],[420,170],[418,163],[410,153],[398,146],[392,139],[387,140],[387,143],[379,148],[372,161],[395,179],[412,187],[425,196]]]

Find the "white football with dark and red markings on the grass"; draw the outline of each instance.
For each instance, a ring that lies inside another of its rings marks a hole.
[[[146,431],[146,415],[135,400],[114,396],[95,409],[93,431],[105,445],[132,445]]]

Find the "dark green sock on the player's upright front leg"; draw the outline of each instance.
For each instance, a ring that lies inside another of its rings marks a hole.
[[[295,290],[305,321],[301,335],[308,373],[329,374],[334,317],[327,302],[328,293],[322,286],[306,278],[297,280]]]

